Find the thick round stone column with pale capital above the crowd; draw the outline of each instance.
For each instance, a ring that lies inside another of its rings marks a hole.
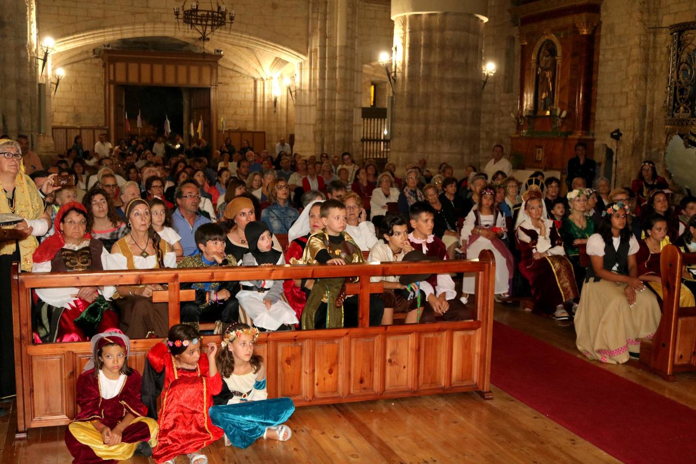
[[[487,2],[394,0],[397,79],[390,161],[455,171],[479,157]]]

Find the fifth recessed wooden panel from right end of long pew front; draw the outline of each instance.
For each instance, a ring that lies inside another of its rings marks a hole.
[[[316,398],[342,396],[341,380],[345,376],[343,340],[314,342],[314,394]]]

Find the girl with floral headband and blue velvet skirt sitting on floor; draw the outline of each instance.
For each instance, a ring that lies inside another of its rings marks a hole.
[[[215,362],[223,379],[210,408],[213,424],[225,431],[225,445],[246,448],[258,438],[290,439],[283,424],[295,410],[290,398],[267,399],[266,367],[254,354],[258,328],[235,323],[225,331]]]

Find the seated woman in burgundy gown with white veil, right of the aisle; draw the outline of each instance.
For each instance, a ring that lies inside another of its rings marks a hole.
[[[530,189],[523,200],[516,237],[521,253],[519,271],[532,287],[532,310],[557,320],[569,319],[564,303],[578,298],[578,286],[573,266],[565,257],[563,240],[544,214],[541,191]]]

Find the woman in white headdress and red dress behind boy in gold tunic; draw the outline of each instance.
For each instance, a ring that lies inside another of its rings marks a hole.
[[[319,216],[319,208],[323,202],[323,200],[315,200],[307,205],[287,232],[287,240],[289,242],[285,252],[285,262],[287,264],[299,264],[299,259],[301,259],[304,253],[309,236],[322,230],[324,227],[321,216]],[[287,303],[290,304],[290,307],[297,314],[297,319],[302,317],[302,310],[307,302],[307,296],[312,290],[313,283],[311,279],[287,279],[283,282],[285,298],[287,298]]]

